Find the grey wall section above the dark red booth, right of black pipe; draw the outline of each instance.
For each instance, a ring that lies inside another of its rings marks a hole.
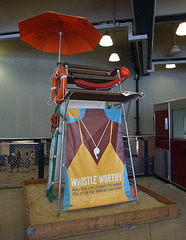
[[[186,71],[184,64],[167,70],[165,65],[155,67],[150,76],[140,78],[140,90],[146,98],[140,103],[140,127],[143,133],[153,134],[154,103],[185,97]]]

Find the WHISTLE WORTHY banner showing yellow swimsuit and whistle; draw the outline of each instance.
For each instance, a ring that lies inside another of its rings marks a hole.
[[[119,109],[69,108],[63,208],[133,201]]]

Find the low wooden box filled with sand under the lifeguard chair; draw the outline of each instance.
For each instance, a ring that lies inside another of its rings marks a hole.
[[[53,239],[147,222],[175,218],[177,203],[138,185],[139,201],[60,212],[57,217],[57,194],[50,203],[45,196],[45,179],[23,182],[28,239]],[[56,189],[57,193],[57,189]],[[61,204],[62,206],[62,204]]]

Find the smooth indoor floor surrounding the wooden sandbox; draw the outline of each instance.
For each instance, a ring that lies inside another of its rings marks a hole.
[[[179,203],[181,205],[181,215],[170,220],[61,239],[185,240],[186,192],[155,177],[139,177],[137,178],[137,183]],[[26,224],[22,188],[0,190],[0,213],[0,239],[25,240]]]

